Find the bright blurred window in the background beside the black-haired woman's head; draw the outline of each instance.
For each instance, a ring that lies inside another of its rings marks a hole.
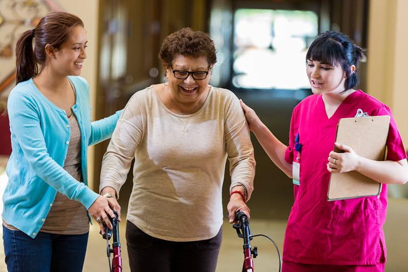
[[[305,56],[318,34],[312,11],[238,9],[232,83],[243,89],[309,89]]]

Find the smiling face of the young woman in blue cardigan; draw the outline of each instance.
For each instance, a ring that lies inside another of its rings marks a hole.
[[[82,26],[75,26],[68,39],[55,51],[50,64],[60,75],[80,75],[82,63],[86,59],[86,32]]]

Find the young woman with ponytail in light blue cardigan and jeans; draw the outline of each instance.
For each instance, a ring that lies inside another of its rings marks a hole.
[[[88,212],[112,227],[107,215],[119,209],[87,186],[87,148],[111,137],[120,112],[91,122],[89,86],[79,77],[86,47],[82,20],[65,12],[17,41],[2,214],[9,271],[82,271]]]

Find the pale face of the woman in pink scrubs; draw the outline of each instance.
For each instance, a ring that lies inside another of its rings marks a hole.
[[[306,73],[314,94],[340,93],[345,90],[346,76],[339,64],[332,66],[308,60]]]

